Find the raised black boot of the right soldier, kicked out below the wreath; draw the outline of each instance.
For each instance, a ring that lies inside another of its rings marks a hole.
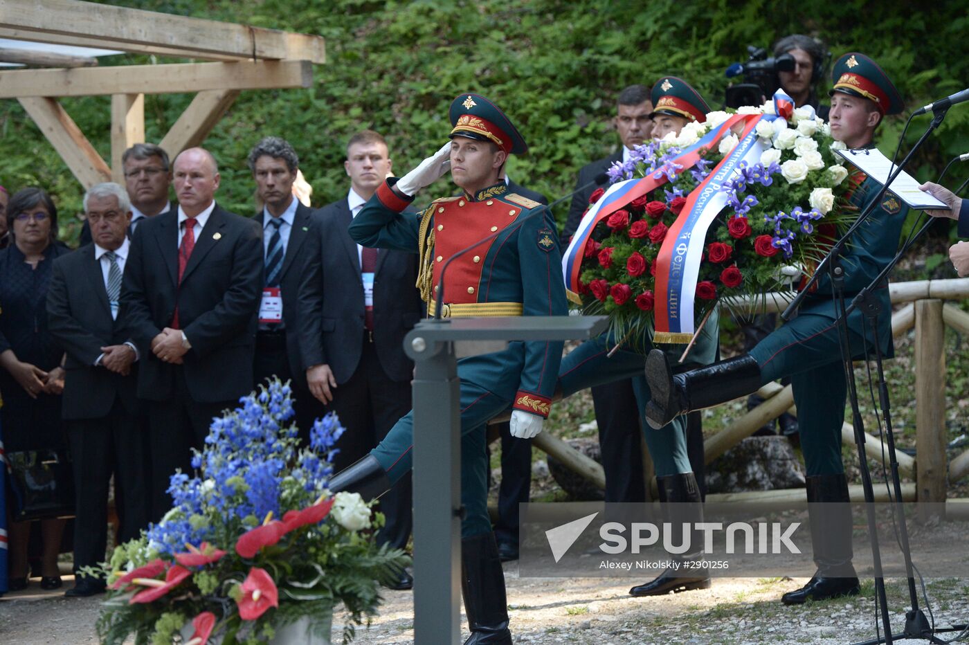
[[[745,353],[674,375],[666,354],[653,350],[646,356],[646,381],[652,395],[646,421],[658,430],[679,415],[756,392],[761,367]]]

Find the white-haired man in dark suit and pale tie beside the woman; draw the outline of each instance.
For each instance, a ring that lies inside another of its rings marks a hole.
[[[67,353],[62,414],[74,460],[78,513],[77,583],[65,594],[69,597],[105,590],[105,580],[78,571],[105,559],[112,474],[118,493],[118,540],[138,537],[148,522],[141,468],[145,436],[136,395],[138,352],[118,316],[121,276],[131,247],[131,205],[121,186],[104,183],[84,196],[84,212],[94,243],[54,262],[47,291],[50,333]]]

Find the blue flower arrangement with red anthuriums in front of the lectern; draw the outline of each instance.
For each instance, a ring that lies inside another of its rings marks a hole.
[[[196,475],[172,476],[172,509],[95,572],[109,580],[103,642],[268,642],[304,617],[327,630],[337,602],[350,614],[348,642],[376,613],[379,582],[409,564],[365,531],[383,517],[359,494],[327,490],[343,432],[335,415],[318,419],[300,447],[286,425],[288,384],[275,380],[240,403],[213,419],[194,452]]]

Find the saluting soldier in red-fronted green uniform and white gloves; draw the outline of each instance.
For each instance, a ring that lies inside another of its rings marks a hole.
[[[565,316],[558,237],[541,204],[510,193],[501,171],[509,154],[527,150],[504,112],[478,94],[461,94],[451,110],[451,141],[420,166],[378,189],[350,235],[363,246],[420,254],[418,283],[428,314],[447,261],[443,312],[452,318]],[[435,200],[420,215],[402,212],[422,188],[451,169],[462,195]],[[494,235],[492,239],[485,238]],[[512,435],[530,439],[547,418],[562,356],[561,342],[513,342],[506,350],[464,358],[461,382],[461,589],[468,644],[508,643],[505,577],[487,513],[485,423],[514,408]],[[335,491],[377,497],[410,470],[413,414],[402,417],[370,454],[337,474]]]

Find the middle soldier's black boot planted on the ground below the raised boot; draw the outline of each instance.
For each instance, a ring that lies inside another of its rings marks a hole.
[[[683,523],[688,522],[696,526],[697,522],[703,522],[703,502],[700,495],[700,486],[697,485],[697,478],[693,473],[682,475],[671,475],[656,477],[657,488],[660,495],[660,503],[664,505],[663,514],[672,525],[672,543],[682,544]],[[674,504],[667,505],[667,502]],[[703,533],[693,531],[690,535],[691,553],[701,554],[703,545]],[[673,556],[679,561],[689,560],[690,554]],[[655,579],[641,585],[637,585],[629,590],[630,596],[662,596],[673,592],[678,594],[682,591],[693,589],[709,589],[710,577],[708,575],[683,577],[682,570],[666,569]]]

